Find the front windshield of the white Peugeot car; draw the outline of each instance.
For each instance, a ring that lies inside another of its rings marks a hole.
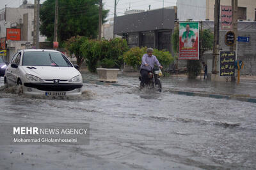
[[[58,52],[24,52],[22,66],[59,66],[72,67],[62,53]]]

